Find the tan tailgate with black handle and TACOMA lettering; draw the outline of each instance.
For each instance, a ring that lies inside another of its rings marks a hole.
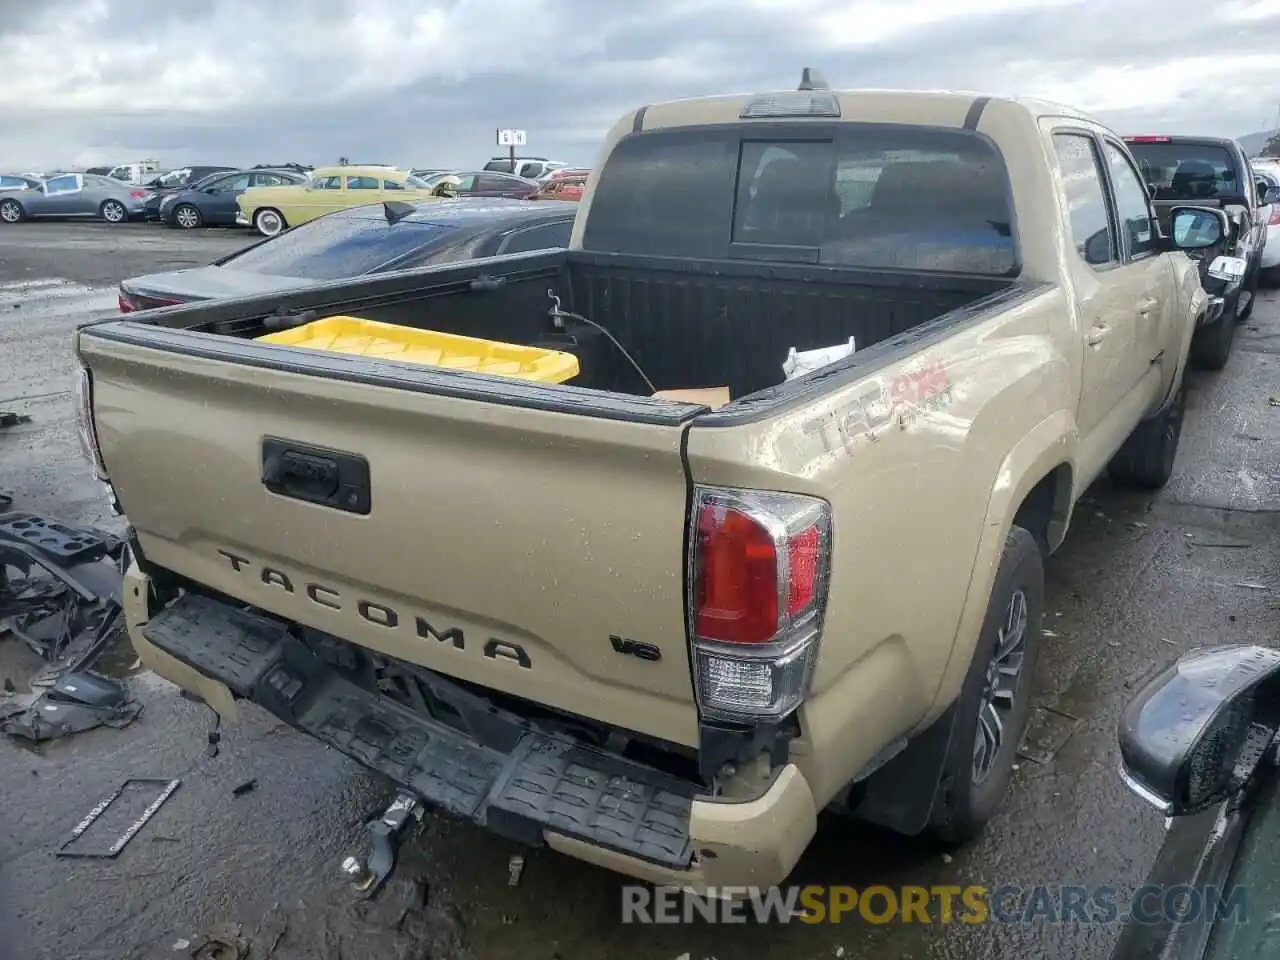
[[[698,407],[584,416],[564,398],[591,412],[586,392],[397,364],[325,372],[335,361],[317,351],[131,323],[83,330],[79,352],[151,563],[444,675],[696,745],[681,443]],[[488,402],[457,396],[477,385]]]

